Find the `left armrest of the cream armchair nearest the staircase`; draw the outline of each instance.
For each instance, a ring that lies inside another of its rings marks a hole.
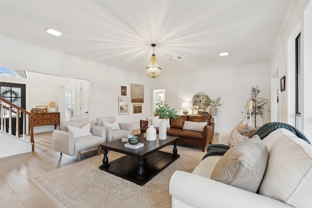
[[[52,133],[52,147],[61,153],[73,156],[75,154],[74,136],[70,132],[54,130]]]

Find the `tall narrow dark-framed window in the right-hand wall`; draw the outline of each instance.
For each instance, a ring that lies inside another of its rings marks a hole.
[[[301,129],[301,95],[300,95],[300,84],[301,84],[301,65],[300,65],[300,33],[296,38],[296,75],[295,75],[295,85],[296,85],[296,128]]]

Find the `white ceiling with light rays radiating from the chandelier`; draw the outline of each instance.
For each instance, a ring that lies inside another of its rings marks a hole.
[[[184,73],[268,61],[291,1],[0,0],[0,35],[144,75],[155,43]]]

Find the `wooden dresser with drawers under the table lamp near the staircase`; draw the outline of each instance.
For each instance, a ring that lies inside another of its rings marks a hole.
[[[47,125],[54,125],[55,129],[57,125],[59,125],[59,115],[60,113],[35,113],[34,118],[34,127],[35,126],[47,126]],[[30,122],[29,122],[30,127]]]

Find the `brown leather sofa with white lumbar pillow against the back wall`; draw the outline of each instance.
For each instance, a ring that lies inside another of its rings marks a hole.
[[[178,136],[178,144],[192,145],[201,147],[202,151],[205,151],[208,144],[211,143],[215,131],[215,123],[211,122],[211,115],[180,115],[176,120],[170,118],[170,128],[167,128],[167,135]],[[183,130],[184,121],[193,122],[207,122],[204,126],[203,132],[197,132],[192,130]],[[147,120],[140,120],[140,130],[146,132]],[[158,128],[155,128],[158,133]]]

